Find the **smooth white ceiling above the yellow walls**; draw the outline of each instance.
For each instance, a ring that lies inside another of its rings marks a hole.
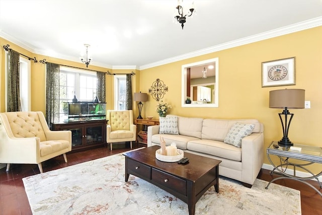
[[[184,1],[185,11],[191,3]],[[73,61],[90,44],[90,66],[144,68],[311,19],[322,25],[322,0],[195,0],[197,13],[187,17],[183,30],[173,22],[176,5],[177,0],[0,0],[0,37]]]

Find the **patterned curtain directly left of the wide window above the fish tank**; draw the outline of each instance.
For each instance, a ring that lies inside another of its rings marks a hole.
[[[59,122],[59,64],[46,63],[46,121],[49,128]]]

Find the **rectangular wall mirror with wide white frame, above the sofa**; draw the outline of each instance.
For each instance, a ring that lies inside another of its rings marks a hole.
[[[216,57],[182,65],[182,107],[218,107],[218,63]]]

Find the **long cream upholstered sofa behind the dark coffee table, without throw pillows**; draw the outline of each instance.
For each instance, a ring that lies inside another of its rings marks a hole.
[[[174,117],[175,115],[167,115]],[[177,116],[179,134],[159,134],[159,125],[147,129],[147,146],[175,142],[177,148],[209,158],[221,160],[219,175],[243,182],[251,187],[263,165],[264,127],[256,119],[202,119]],[[241,148],[224,143],[234,123],[255,125],[252,133],[241,140]]]

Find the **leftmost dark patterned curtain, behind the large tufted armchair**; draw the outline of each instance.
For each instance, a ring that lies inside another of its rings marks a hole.
[[[21,111],[20,104],[20,62],[19,52],[8,50],[7,111]]]

